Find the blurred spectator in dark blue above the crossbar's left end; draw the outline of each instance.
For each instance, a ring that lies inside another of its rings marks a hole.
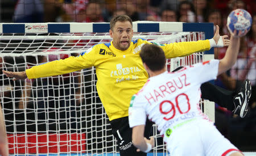
[[[44,22],[44,9],[40,0],[18,0],[14,10],[15,23]]]

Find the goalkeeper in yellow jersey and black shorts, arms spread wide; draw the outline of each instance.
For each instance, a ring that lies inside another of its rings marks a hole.
[[[65,74],[95,66],[98,95],[109,117],[120,155],[145,155],[142,152],[137,153],[137,149],[131,142],[128,109],[131,97],[143,87],[148,78],[147,71],[139,57],[141,47],[144,44],[155,43],[143,39],[131,40],[133,38],[133,23],[127,15],[115,16],[110,21],[109,34],[113,38],[112,42],[94,45],[80,56],[48,62],[22,72],[3,71],[3,73],[7,77],[14,77],[14,80],[32,79]],[[219,43],[222,46],[228,45],[229,40],[216,32],[213,39],[210,40],[163,44],[160,45],[160,48],[164,50],[167,58],[173,58],[209,50]],[[229,99],[230,106],[236,108],[232,96]],[[247,102],[241,104],[247,106]],[[234,108],[230,108],[231,111]],[[150,124],[147,125],[150,129]],[[146,131],[145,136],[150,136],[150,130]]]

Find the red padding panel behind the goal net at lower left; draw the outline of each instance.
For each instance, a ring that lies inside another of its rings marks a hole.
[[[76,153],[86,150],[85,133],[31,133],[27,136],[26,134],[7,134],[7,137],[10,154]],[[36,137],[38,141],[36,141]],[[36,147],[38,147],[38,151],[36,151]]]

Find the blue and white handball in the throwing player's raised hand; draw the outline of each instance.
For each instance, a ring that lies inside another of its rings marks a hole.
[[[251,15],[249,12],[243,9],[236,9],[230,12],[228,16],[227,26],[231,33],[234,32],[234,30],[237,30],[238,32],[242,31],[242,36],[246,35],[245,31],[249,31],[251,27]]]

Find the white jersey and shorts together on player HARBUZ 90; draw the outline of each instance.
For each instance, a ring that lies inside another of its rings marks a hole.
[[[200,86],[217,77],[218,64],[211,60],[149,78],[131,99],[130,127],[144,125],[146,117],[154,121],[171,155],[227,156],[239,151],[199,107]]]

